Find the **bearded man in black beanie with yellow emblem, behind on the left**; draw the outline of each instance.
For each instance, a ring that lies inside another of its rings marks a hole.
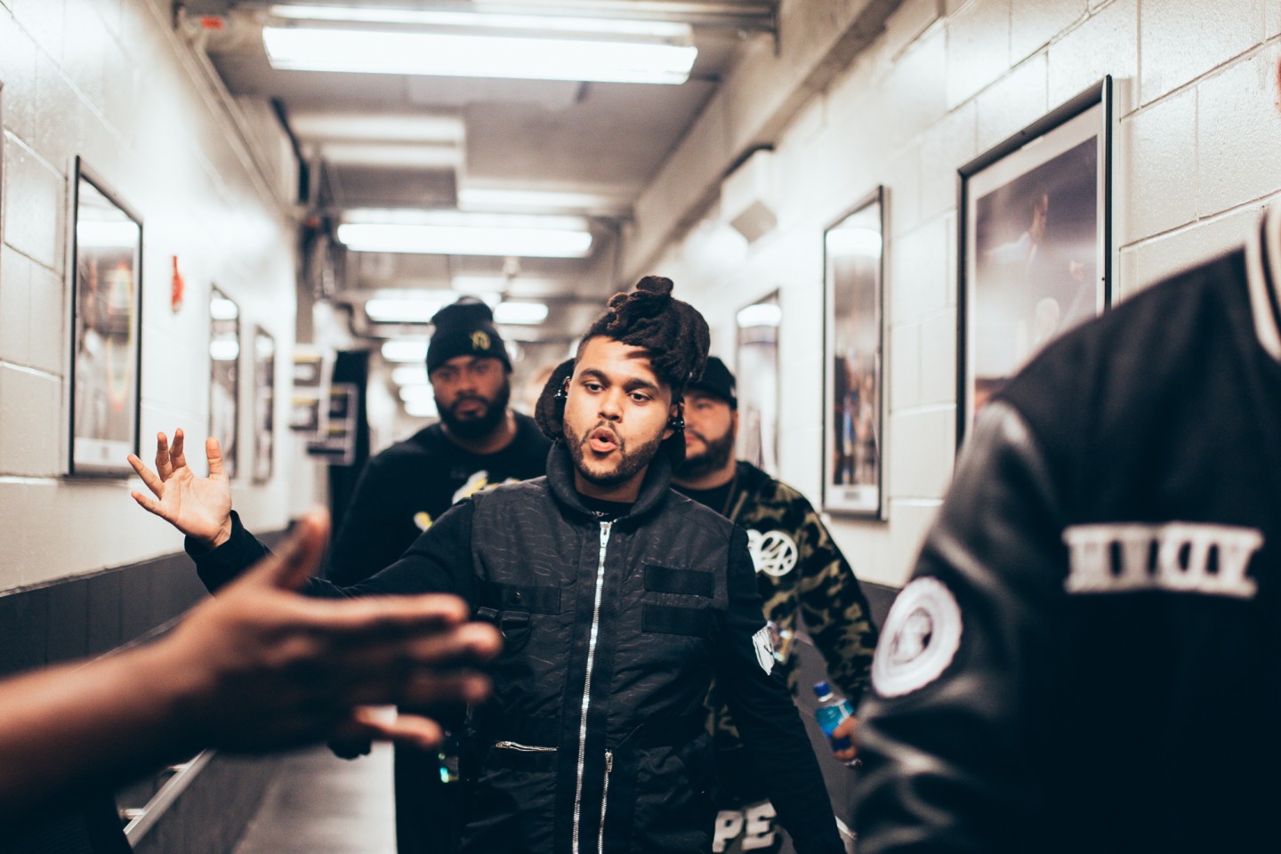
[[[485,303],[464,297],[432,318],[427,375],[441,420],[365,466],[334,538],[328,577],[364,581],[405,553],[456,502],[485,487],[539,478],[551,444],[534,420],[507,406],[511,360]],[[350,755],[341,745],[334,749]],[[396,745],[400,854],[451,849],[457,810],[441,759]]]

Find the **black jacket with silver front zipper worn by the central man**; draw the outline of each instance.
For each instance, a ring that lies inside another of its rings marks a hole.
[[[743,530],[671,492],[661,456],[614,520],[584,506],[564,446],[547,469],[461,502],[360,586],[313,581],[320,595],[455,592],[502,629],[494,697],[473,717],[464,850],[708,851],[715,675],[797,850],[843,851],[792,698],[767,670]],[[218,586],[259,554],[237,526],[197,562]]]

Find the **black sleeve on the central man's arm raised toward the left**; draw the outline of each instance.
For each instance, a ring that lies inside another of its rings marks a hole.
[[[471,602],[471,501],[462,501],[441,516],[405,554],[368,581],[339,586],[325,579],[309,579],[307,595],[350,598],[419,593],[453,593]],[[251,565],[270,554],[232,513],[232,536],[215,549],[204,549],[187,538],[187,553],[210,592],[216,592]]]

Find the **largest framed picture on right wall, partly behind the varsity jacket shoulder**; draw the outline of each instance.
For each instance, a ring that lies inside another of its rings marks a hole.
[[[1112,298],[1112,78],[959,173],[958,444],[1032,356]]]

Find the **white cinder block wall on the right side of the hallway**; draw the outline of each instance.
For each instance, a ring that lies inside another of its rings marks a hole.
[[[785,0],[784,24],[789,8],[808,1]],[[904,0],[776,134],[778,228],[746,246],[712,210],[647,255],[648,269],[707,314],[714,350],[730,359],[735,311],[781,291],[781,476],[817,504],[822,229],[885,186],[889,521],[833,524],[861,577],[906,580],[951,478],[957,168],[1116,77],[1126,102],[1114,149],[1114,288],[1134,293],[1239,242],[1281,189],[1278,33],[1281,0]],[[735,118],[725,115],[722,136],[733,137]],[[697,160],[698,145],[722,154],[692,134],[679,156]],[[655,198],[639,207],[649,209],[639,243],[664,213]]]

